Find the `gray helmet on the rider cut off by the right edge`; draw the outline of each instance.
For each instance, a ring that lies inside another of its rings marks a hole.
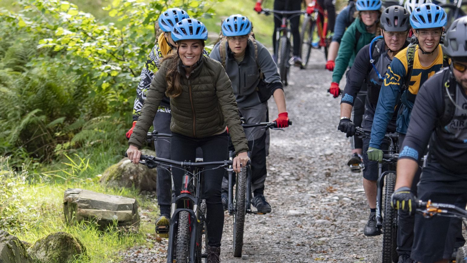
[[[443,52],[451,58],[467,59],[467,16],[456,19],[447,29]]]

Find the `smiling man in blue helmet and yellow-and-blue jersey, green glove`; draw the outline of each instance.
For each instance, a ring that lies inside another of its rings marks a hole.
[[[382,139],[399,101],[402,104],[398,110],[396,131],[400,134],[399,146],[401,146],[407,133],[410,113],[420,85],[446,66],[446,59],[443,58],[443,51],[439,44],[446,25],[446,12],[435,4],[423,4],[410,14],[410,25],[417,44],[400,51],[389,65],[381,86],[371,128],[371,139],[367,151],[368,159],[371,161],[382,161]],[[419,175],[420,172],[417,173],[414,185],[412,185],[414,192],[416,192]],[[410,249],[413,241],[413,220],[413,216],[408,213],[399,212],[397,229],[399,262],[412,262]]]

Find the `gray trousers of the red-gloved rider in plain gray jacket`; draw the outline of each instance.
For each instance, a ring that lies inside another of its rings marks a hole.
[[[239,108],[241,117],[245,118],[246,123],[266,122],[268,104],[261,103],[248,108]],[[248,148],[251,152],[251,190],[255,194],[262,194],[264,191],[264,182],[266,181],[266,131],[263,127],[253,127],[244,129],[248,139]],[[231,143],[229,144],[229,149]],[[225,173],[222,180],[222,190],[228,191],[228,177]]]

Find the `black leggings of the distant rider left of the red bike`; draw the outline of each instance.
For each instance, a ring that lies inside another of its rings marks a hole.
[[[302,5],[301,0],[275,0],[274,1],[274,10],[282,11],[295,11],[300,10]],[[279,17],[282,18],[281,15]],[[280,27],[282,24],[281,19],[274,16],[274,32],[272,33],[272,47],[274,53],[276,53],[276,28]],[[300,26],[300,16],[296,15],[290,19],[290,29],[293,38],[293,55],[300,57],[300,31],[298,27]]]

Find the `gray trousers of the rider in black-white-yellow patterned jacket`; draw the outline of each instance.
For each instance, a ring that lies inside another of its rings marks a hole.
[[[154,118],[154,129],[159,133],[171,133],[170,119],[172,115],[167,112],[158,111]],[[154,141],[156,155],[159,158],[170,159],[170,138],[158,139]],[[157,204],[170,205],[172,181],[167,168],[157,167]]]

